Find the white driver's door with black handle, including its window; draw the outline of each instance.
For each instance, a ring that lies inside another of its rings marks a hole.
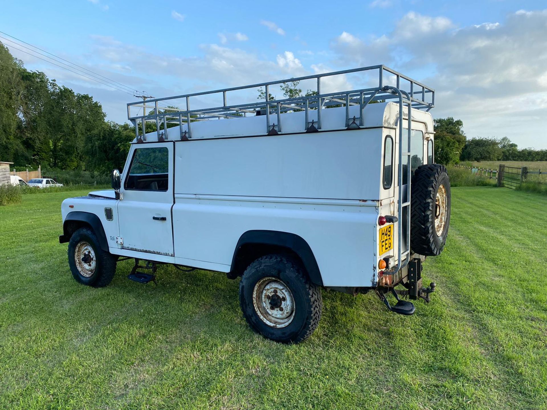
[[[121,249],[173,256],[173,149],[131,145],[118,201]]]

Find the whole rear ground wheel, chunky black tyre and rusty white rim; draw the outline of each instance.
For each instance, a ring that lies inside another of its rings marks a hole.
[[[321,288],[298,261],[267,255],[243,273],[240,306],[255,332],[276,342],[299,343],[317,328],[323,301]]]

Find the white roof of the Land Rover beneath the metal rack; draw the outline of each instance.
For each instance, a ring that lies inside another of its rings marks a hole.
[[[349,107],[350,119],[353,116],[359,118],[359,106]],[[305,132],[305,113],[283,113],[281,118],[281,133]],[[403,118],[408,118],[408,107],[403,108]],[[270,121],[277,122],[277,115],[271,114]],[[317,121],[317,110],[310,110],[309,121]],[[396,127],[399,120],[399,104],[394,102],[381,102],[368,104],[363,109],[362,128],[371,127]],[[346,126],[346,108],[335,107],[321,110],[321,131],[343,130]],[[429,112],[412,109],[412,121],[422,122],[426,126],[426,132],[433,132],[433,118]],[[191,123],[192,139],[230,138],[236,136],[265,135],[266,115],[243,116],[240,118],[196,121]],[[187,131],[187,125],[183,124],[182,130]],[[164,131],[160,130],[160,136],[165,138]],[[180,140],[179,126],[167,128],[167,140]],[[157,142],[158,132],[146,134],[146,142]],[[132,143],[136,143],[133,139]]]

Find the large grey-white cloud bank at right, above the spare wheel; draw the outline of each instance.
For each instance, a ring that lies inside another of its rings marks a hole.
[[[342,32],[331,49],[345,66],[383,63],[432,86],[433,114],[461,118],[469,136],[507,135],[521,147],[547,148],[538,139],[547,128],[546,33],[547,10],[464,27],[411,12],[385,36]]]

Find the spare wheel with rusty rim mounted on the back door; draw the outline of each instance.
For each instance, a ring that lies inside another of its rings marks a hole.
[[[427,164],[412,177],[410,245],[424,256],[444,248],[450,225],[450,179],[444,165]]]

